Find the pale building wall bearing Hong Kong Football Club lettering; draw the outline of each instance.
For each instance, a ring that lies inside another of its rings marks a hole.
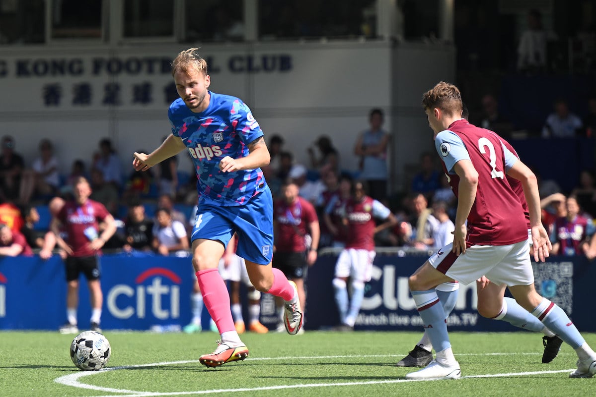
[[[61,170],[89,162],[109,137],[128,175],[136,150],[151,150],[169,133],[167,106],[175,99],[170,62],[181,45],[15,46],[0,49],[0,128],[32,162],[42,137],[55,143]],[[393,134],[393,182],[432,150],[421,93],[454,81],[452,46],[393,42],[239,43],[205,45],[211,89],[241,97],[265,134],[281,134],[296,160],[326,134],[355,171],[353,143],[368,112],[386,112]],[[30,165],[30,164],[28,164]],[[179,167],[191,169],[187,156]]]

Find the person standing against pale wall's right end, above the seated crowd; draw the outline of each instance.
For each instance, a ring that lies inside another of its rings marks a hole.
[[[354,145],[354,154],[361,157],[360,175],[367,184],[370,197],[387,200],[387,152],[389,134],[382,129],[383,111],[372,109],[368,116],[370,128],[365,130]]]

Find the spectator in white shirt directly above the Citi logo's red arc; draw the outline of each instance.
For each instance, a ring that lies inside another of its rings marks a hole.
[[[167,196],[169,197],[169,196]],[[155,213],[156,223],[153,225],[153,249],[160,255],[187,256],[190,249],[188,235],[184,223],[173,220],[170,210],[164,207]]]

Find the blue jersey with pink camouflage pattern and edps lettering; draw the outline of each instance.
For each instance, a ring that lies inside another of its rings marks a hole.
[[[248,144],[263,136],[250,109],[237,97],[209,92],[209,106],[194,113],[181,98],[170,105],[172,134],[188,148],[197,172],[198,202],[240,206],[266,188],[260,168],[222,172],[219,160],[249,155]]]

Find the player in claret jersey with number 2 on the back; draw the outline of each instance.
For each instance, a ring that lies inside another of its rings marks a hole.
[[[534,258],[544,261],[551,244],[540,219],[535,175],[496,134],[461,118],[461,94],[454,85],[438,83],[424,93],[422,102],[443,170],[458,197],[458,207],[453,244],[437,251],[409,278],[412,297],[437,354],[429,366],[406,378],[461,376],[435,287],[453,280],[467,285],[482,276],[497,285],[507,285],[517,303],[575,349],[578,368],[570,377],[592,377],[596,373],[596,353],[564,311],[534,288],[526,218],[505,174],[522,183]]]

